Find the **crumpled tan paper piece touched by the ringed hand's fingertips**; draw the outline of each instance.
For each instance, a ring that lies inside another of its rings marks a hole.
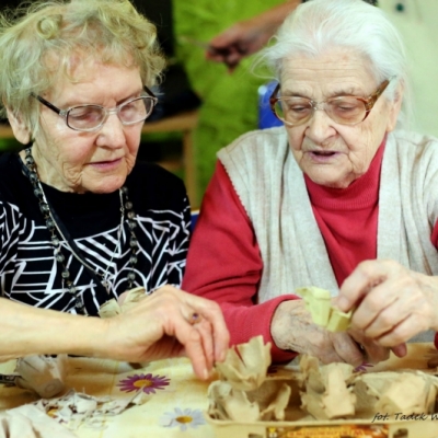
[[[270,365],[270,344],[263,345],[263,337],[253,337],[246,344],[240,344],[227,351],[223,362],[217,362],[220,379],[229,382],[233,389],[253,391],[266,379]]]

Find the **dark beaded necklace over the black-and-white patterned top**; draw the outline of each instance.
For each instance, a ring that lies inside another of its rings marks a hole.
[[[90,264],[84,260],[84,256],[82,255],[81,250],[77,246],[74,241],[70,238],[68,230],[64,227],[61,223],[60,219],[56,215],[55,210],[50,209],[50,206],[46,199],[46,195],[44,193],[43,186],[41,184],[38,174],[36,173],[36,164],[35,160],[32,157],[32,150],[31,148],[27,148],[25,150],[26,157],[25,157],[25,164],[27,168],[27,177],[30,178],[33,187],[34,187],[34,194],[36,198],[38,199],[39,203],[39,209],[44,216],[44,220],[46,222],[47,230],[51,234],[51,244],[55,247],[55,258],[56,261],[61,265],[62,270],[61,270],[61,277],[62,277],[62,285],[68,289],[69,293],[71,293],[74,299],[74,308],[78,313],[80,314],[88,314],[87,309],[83,302],[83,297],[81,297],[78,293],[77,287],[74,286],[73,281],[70,279],[70,272],[68,267],[65,264],[65,255],[62,254],[61,251],[61,242],[66,242],[66,245],[69,247],[73,256],[83,265],[87,267],[93,279],[96,280],[97,284],[101,284],[107,293],[110,293],[110,290],[112,288],[112,284],[108,281],[108,272],[110,272],[110,266],[113,262],[113,258],[116,256],[117,252],[118,255],[120,255],[122,249],[120,249],[120,237],[122,237],[122,229],[123,229],[123,223],[125,219],[125,211],[126,211],[126,217],[128,220],[128,228],[130,232],[130,240],[129,240],[129,246],[130,246],[130,257],[129,257],[129,273],[127,275],[127,281],[128,281],[128,288],[127,290],[132,288],[134,280],[136,279],[136,273],[134,272],[135,265],[137,263],[137,247],[138,247],[138,241],[136,233],[134,232],[134,229],[137,227],[137,222],[135,220],[136,214],[132,210],[132,203],[128,199],[128,188],[123,186],[119,188],[119,196],[120,196],[120,224],[118,227],[118,234],[117,234],[117,244],[116,247],[114,249],[113,255],[111,257],[111,261],[108,262],[108,265],[105,269],[105,272],[99,273],[96,272]],[[57,220],[55,219],[57,218]],[[64,228],[64,231],[61,230]]]

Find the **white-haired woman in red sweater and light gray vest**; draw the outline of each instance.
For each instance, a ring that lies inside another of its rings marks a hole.
[[[183,287],[221,304],[233,344],[262,334],[276,361],[402,356],[438,331],[438,141],[402,130],[401,37],[361,0],[312,0],[272,43],[284,126],[219,151]],[[312,322],[295,293],[309,286],[355,309],[348,332]]]

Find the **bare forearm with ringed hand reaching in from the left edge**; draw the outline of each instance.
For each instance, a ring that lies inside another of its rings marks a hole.
[[[229,344],[218,304],[172,286],[114,318],[37,309],[5,298],[0,298],[0,360],[66,353],[142,362],[185,355],[196,374],[207,379]]]

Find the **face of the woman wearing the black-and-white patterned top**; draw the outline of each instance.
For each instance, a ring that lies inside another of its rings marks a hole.
[[[60,110],[81,104],[113,108],[142,93],[137,68],[93,62],[78,67],[76,73],[79,82],[66,78],[43,97]],[[76,131],[62,117],[42,105],[42,129],[33,147],[41,180],[62,192],[116,191],[135,164],[141,126],[141,123],[124,126],[112,113],[100,130]]]

